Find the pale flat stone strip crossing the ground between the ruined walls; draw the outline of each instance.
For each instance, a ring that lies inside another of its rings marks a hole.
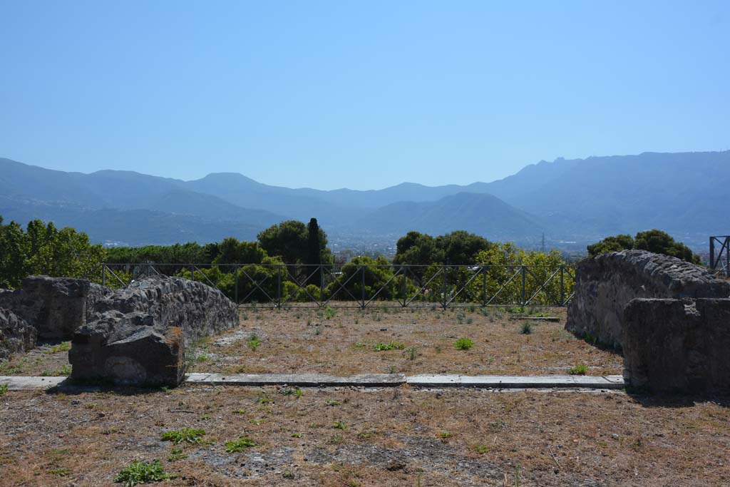
[[[10,391],[45,389],[60,386],[67,377],[0,376],[0,385]],[[584,388],[621,389],[621,375],[434,375],[406,377],[403,374],[362,374],[337,377],[325,374],[188,374],[188,383],[215,386],[293,386],[293,387],[393,387],[409,384],[420,388],[472,387],[493,389]]]

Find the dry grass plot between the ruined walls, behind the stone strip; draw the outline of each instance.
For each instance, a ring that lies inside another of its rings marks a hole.
[[[564,310],[547,311],[561,322],[533,321],[531,334],[523,334],[523,321],[478,308],[334,310],[329,318],[322,310],[244,310],[239,329],[201,344],[196,369],[227,374],[545,375],[566,374],[585,364],[589,375],[621,374],[621,356],[564,331]],[[247,346],[252,334],[261,340],[255,350]],[[457,350],[461,337],[475,345]],[[403,348],[376,351],[380,343]]]

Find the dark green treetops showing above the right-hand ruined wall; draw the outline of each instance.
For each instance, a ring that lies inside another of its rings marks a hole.
[[[680,258],[683,261],[700,263],[698,255],[682,242],[675,241],[666,231],[657,229],[639,231],[636,237],[631,235],[616,235],[606,237],[600,242],[588,245],[588,256],[594,257],[602,253],[618,252],[619,250],[630,249],[648,250],[653,253],[662,253],[666,256]]]

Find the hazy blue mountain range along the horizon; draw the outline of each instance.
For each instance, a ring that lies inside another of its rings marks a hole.
[[[395,242],[409,230],[464,229],[492,240],[583,244],[658,228],[704,247],[727,234],[730,151],[642,153],[530,164],[491,183],[381,190],[283,188],[236,173],[183,181],[137,172],[62,172],[0,158],[0,215],[74,226],[126,245],[254,239],[318,218],[331,242]]]

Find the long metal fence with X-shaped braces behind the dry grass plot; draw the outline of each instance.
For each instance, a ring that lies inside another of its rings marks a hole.
[[[99,282],[123,287],[148,275],[200,281],[239,307],[564,307],[570,266],[102,264]]]

